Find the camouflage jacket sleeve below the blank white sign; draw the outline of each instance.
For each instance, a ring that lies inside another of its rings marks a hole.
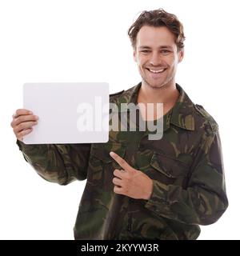
[[[66,185],[86,179],[91,144],[17,144],[26,162],[47,181]]]

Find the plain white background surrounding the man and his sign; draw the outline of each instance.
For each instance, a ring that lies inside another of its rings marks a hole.
[[[127,29],[159,7],[182,21],[186,54],[177,82],[214,116],[222,138],[230,206],[199,239],[239,239],[239,6],[229,1],[1,0],[0,238],[73,239],[85,182],[58,186],[22,158],[10,127],[24,82],[140,82]]]

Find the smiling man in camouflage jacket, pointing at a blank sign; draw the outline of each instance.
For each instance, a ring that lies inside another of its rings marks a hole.
[[[75,239],[196,239],[198,225],[216,222],[228,206],[218,125],[175,82],[185,39],[178,18],[144,11],[129,36],[142,82],[110,102],[162,102],[161,139],[150,140],[150,130],[110,130],[106,143],[25,145],[37,117],[17,110],[11,125],[42,178],[62,185],[87,179]],[[148,121],[140,108],[137,126],[141,116]]]

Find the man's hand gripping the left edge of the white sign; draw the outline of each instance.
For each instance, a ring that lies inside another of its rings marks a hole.
[[[14,134],[19,141],[22,141],[26,134],[30,134],[33,126],[38,124],[38,116],[34,115],[30,110],[19,109],[13,114],[13,127]]]

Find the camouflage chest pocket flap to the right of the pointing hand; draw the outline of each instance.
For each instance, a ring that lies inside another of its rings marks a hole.
[[[154,153],[150,159],[149,176],[166,185],[182,185],[189,168],[185,162],[165,154]]]

